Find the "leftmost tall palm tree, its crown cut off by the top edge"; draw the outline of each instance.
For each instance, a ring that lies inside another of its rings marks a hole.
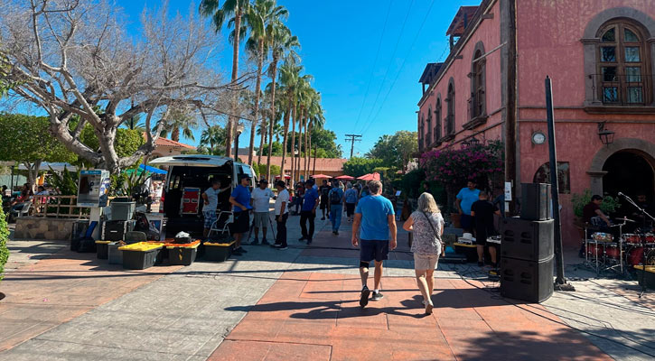
[[[225,18],[229,15],[234,15],[234,35],[230,36],[232,40],[232,82],[237,81],[239,78],[239,38],[241,32],[241,18],[244,12],[248,11],[250,0],[226,0],[223,5],[219,5],[219,0],[201,0],[200,12],[203,16],[211,16],[211,21],[214,23],[216,32],[220,32],[220,28],[225,22]],[[232,22],[230,22],[232,23]],[[233,108],[237,107],[236,97],[233,100]],[[235,114],[236,111],[232,112]],[[234,126],[234,116],[228,117],[228,137],[225,142],[225,154],[231,157],[232,154],[232,134],[236,127]]]

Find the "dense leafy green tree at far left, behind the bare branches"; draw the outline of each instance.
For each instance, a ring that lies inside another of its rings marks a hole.
[[[78,158],[51,135],[49,127],[44,116],[0,114],[0,161],[23,163],[31,185],[42,162],[75,162]]]

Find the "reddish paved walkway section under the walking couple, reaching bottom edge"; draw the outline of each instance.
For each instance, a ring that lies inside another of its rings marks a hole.
[[[534,304],[478,282],[437,279],[424,315],[413,278],[382,280],[385,298],[361,310],[357,276],[285,273],[210,360],[610,360]]]

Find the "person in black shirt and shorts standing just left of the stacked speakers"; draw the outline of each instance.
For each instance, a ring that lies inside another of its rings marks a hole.
[[[478,200],[471,206],[471,216],[475,219],[475,244],[478,251],[478,265],[484,265],[484,245],[487,245],[487,236],[493,235],[496,230],[493,227],[493,214],[501,215],[501,211],[494,207],[489,201],[489,193],[482,190]],[[491,265],[496,268],[496,246],[489,246]]]

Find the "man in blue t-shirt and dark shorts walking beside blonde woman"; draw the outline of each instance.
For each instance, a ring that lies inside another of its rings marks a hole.
[[[360,306],[369,303],[369,263],[375,260],[375,275],[372,301],[382,299],[379,292],[379,282],[382,278],[382,262],[388,259],[389,249],[396,248],[396,217],[391,201],[382,197],[382,183],[379,180],[369,182],[370,195],[360,199],[355,209],[355,220],[352,223],[352,245],[360,245],[360,276],[361,294]],[[360,231],[360,239],[357,233]],[[389,241],[389,231],[391,239]]]

